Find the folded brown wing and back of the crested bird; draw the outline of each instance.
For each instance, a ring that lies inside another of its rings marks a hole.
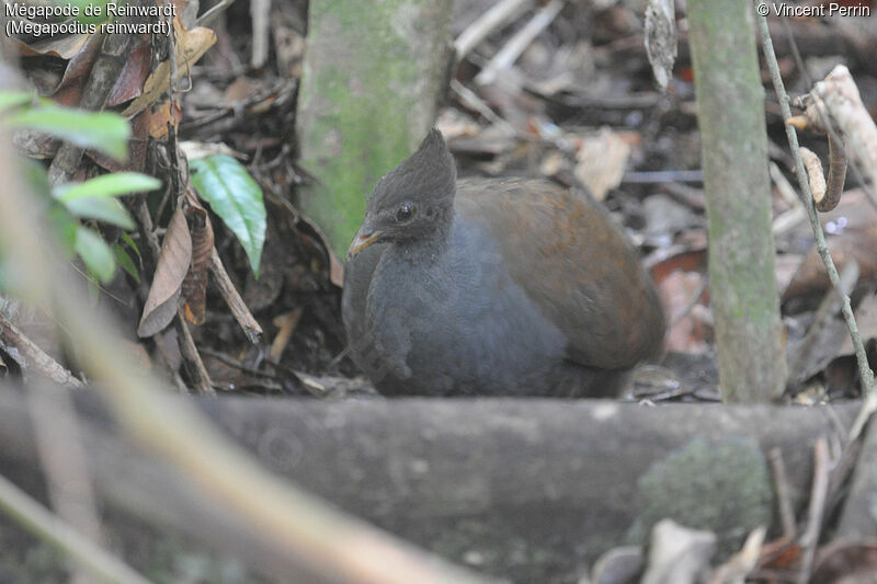
[[[512,278],[566,335],[570,359],[625,368],[660,351],[654,288],[592,197],[544,181],[474,180],[459,183],[456,206],[488,229]]]

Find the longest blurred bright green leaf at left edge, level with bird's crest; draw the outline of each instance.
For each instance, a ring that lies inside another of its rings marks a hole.
[[[80,148],[100,150],[116,160],[127,156],[130,138],[130,126],[117,114],[58,106],[32,107],[7,116],[2,125],[45,131]]]

